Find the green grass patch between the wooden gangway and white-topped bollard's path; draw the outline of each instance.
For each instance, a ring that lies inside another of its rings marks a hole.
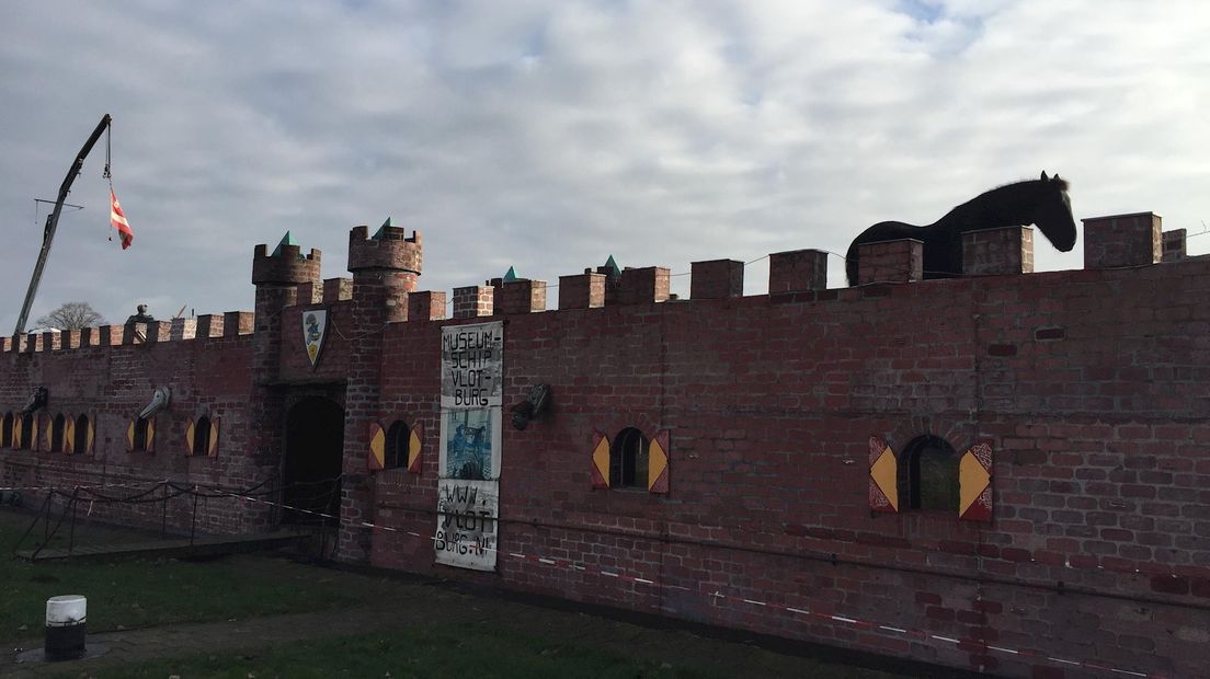
[[[0,643],[41,637],[46,599],[57,594],[88,598],[90,632],[312,611],[373,597],[364,582],[373,579],[301,568],[258,573],[249,558],[29,563],[11,555],[31,518],[0,510]]]

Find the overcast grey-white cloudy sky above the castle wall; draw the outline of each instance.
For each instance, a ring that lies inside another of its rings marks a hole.
[[[674,274],[756,260],[764,294],[770,253],[843,253],[1043,169],[1077,220],[1152,210],[1192,234],[1210,222],[1208,36],[1200,0],[11,2],[0,333],[38,256],[34,199],[104,114],[134,244],[108,239],[103,140],[28,327],[73,300],[113,323],[140,301],[252,309],[255,244],[289,230],[347,277],[348,230],[387,216],[424,236],[420,289],[445,291],[613,255]],[[1035,250],[1083,266],[1081,245]]]

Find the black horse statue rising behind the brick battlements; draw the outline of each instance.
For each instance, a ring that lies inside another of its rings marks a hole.
[[[845,255],[848,284],[857,285],[857,250],[865,243],[915,238],[924,243],[924,278],[962,275],[962,234],[1004,226],[1037,225],[1060,251],[1076,246],[1076,220],[1071,215],[1067,181],[1059,175],[1019,181],[962,203],[928,226],[883,221],[862,232]]]

